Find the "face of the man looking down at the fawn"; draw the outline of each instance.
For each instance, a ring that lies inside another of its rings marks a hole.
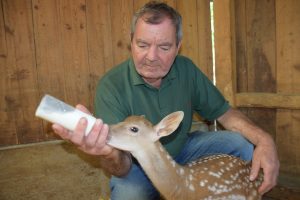
[[[160,24],[147,24],[138,19],[131,42],[137,72],[149,84],[159,87],[178,53],[176,29],[169,18]]]

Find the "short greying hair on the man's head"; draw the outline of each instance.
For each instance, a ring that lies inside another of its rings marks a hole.
[[[171,6],[158,1],[150,1],[140,8],[132,18],[131,39],[133,38],[136,22],[142,18],[148,24],[160,24],[166,17],[171,19],[176,28],[176,45],[182,39],[182,18],[181,15]]]

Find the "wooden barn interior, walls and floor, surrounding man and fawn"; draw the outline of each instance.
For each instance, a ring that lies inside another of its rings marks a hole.
[[[109,199],[109,174],[35,117],[45,94],[94,110],[98,80],[130,56],[146,0],[0,1],[0,199]],[[183,17],[180,54],[273,137],[278,184],[300,199],[300,1],[165,0]],[[214,129],[195,116],[193,128]]]

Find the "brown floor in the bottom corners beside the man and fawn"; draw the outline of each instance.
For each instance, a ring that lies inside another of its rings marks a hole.
[[[0,200],[109,199],[108,180],[97,159],[66,142],[0,149]],[[295,180],[282,177],[263,200],[300,200]]]

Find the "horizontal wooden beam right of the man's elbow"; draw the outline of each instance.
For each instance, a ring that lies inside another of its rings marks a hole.
[[[300,109],[300,95],[279,93],[237,93],[236,107]]]

